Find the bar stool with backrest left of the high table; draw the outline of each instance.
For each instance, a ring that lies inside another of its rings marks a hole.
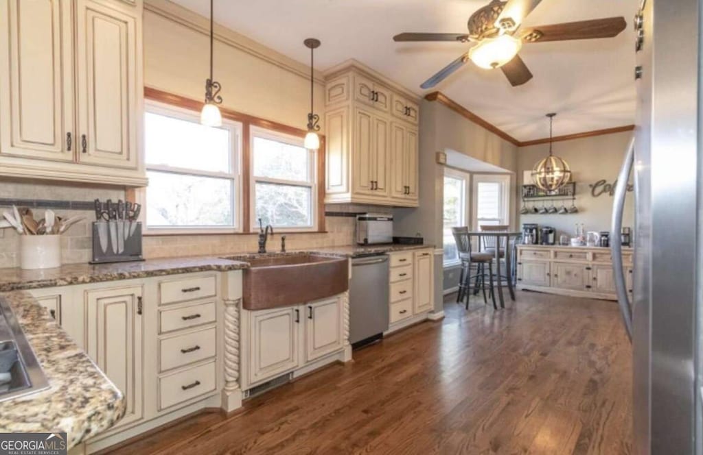
[[[459,258],[461,260],[459,293],[456,299],[457,303],[459,303],[465,298],[466,309],[469,309],[469,296],[472,291],[472,282],[475,282],[473,286],[474,294],[478,294],[479,291],[483,291],[484,303],[488,303],[488,299],[486,298],[486,275],[488,275],[489,295],[491,296],[491,301],[493,301],[493,308],[498,309],[498,305],[496,305],[496,296],[494,294],[493,286],[494,256],[492,256],[491,253],[487,253],[485,251],[472,251],[471,237],[469,235],[468,227],[452,227],[452,234],[454,236],[456,248],[459,252]],[[476,264],[476,275],[471,275],[472,263]],[[486,265],[488,265],[487,272]]]

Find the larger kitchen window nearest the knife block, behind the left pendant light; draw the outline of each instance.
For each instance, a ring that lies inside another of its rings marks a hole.
[[[240,229],[241,124],[200,125],[198,112],[148,102],[148,230]]]

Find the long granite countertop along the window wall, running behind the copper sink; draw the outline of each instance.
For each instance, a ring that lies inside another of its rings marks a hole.
[[[288,251],[286,253],[264,253],[266,256],[292,254],[320,254],[342,258],[356,258],[367,254],[392,253],[414,249],[434,248],[433,245],[345,245]],[[0,269],[0,292],[41,289],[72,284],[89,284],[195,272],[228,272],[250,267],[247,260],[261,257],[258,253],[229,253],[222,256],[184,256],[155,258],[147,261],[112,264],[65,264],[47,270]]]

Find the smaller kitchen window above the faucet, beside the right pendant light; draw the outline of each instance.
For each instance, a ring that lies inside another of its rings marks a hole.
[[[285,230],[316,228],[315,152],[303,138],[251,128],[252,229],[264,225]]]

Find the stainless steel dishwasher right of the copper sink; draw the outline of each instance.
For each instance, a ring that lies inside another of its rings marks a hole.
[[[352,259],[349,287],[349,343],[366,345],[388,330],[388,256]]]

